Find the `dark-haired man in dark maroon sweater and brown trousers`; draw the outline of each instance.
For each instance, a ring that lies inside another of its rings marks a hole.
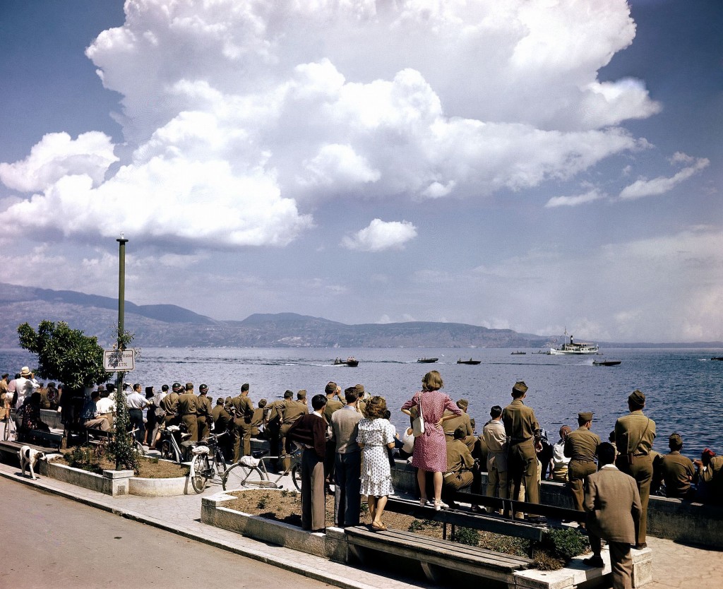
[[[324,496],[324,457],[326,455],[326,397],[312,397],[312,413],[301,415],[286,433],[286,452],[293,452],[294,443],[304,448],[301,454],[301,528],[312,532],[326,529]]]

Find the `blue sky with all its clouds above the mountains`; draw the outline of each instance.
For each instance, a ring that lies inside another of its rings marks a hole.
[[[1,280],[114,296],[124,232],[129,300],[218,319],[722,341],[722,26],[700,0],[4,0]]]

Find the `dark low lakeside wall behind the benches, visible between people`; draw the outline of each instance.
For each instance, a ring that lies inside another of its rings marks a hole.
[[[397,492],[416,493],[416,474],[406,462],[397,461],[392,482]],[[482,493],[486,485],[487,473],[482,473]],[[542,481],[540,500],[547,505],[574,509],[565,483]],[[656,538],[723,549],[723,507],[652,496],[648,504],[648,533]]]

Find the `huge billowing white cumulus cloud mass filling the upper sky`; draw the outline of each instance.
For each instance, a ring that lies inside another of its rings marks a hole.
[[[597,79],[635,35],[624,0],[128,0],[125,12],[86,52],[123,96],[124,144],[47,135],[2,164],[0,180],[29,194],[5,221],[286,245],[329,199],[484,198],[568,179],[638,148],[615,125],[659,110],[643,82]]]

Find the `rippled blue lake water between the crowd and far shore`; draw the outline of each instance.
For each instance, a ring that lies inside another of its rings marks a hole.
[[[192,381],[209,386],[209,396],[235,394],[251,385],[251,398],[269,401],[283,391],[307,389],[322,393],[328,381],[342,389],[361,383],[371,394],[387,399],[392,422],[403,427],[399,407],[419,390],[427,370],[439,370],[452,399],[469,400],[469,414],[479,433],[489,407],[510,402],[517,380],[529,386],[526,404],[557,441],[560,425],[577,426],[579,411],[594,411],[593,431],[607,439],[615,419],[627,412],[628,394],[641,389],[647,396],[646,415],[655,420],[655,449],[667,452],[667,436],[677,431],[684,453],[700,457],[705,447],[723,453],[723,362],[711,361],[718,349],[604,349],[603,356],[571,357],[531,353],[511,355],[510,349],[329,349],[329,348],[144,348],[126,380],[160,387]],[[359,366],[335,366],[335,357],[354,355]],[[420,364],[418,357],[438,357]],[[481,360],[458,365],[458,358]],[[594,366],[593,360],[622,360],[618,366]],[[0,370],[14,374],[35,365],[23,350],[0,350]]]

